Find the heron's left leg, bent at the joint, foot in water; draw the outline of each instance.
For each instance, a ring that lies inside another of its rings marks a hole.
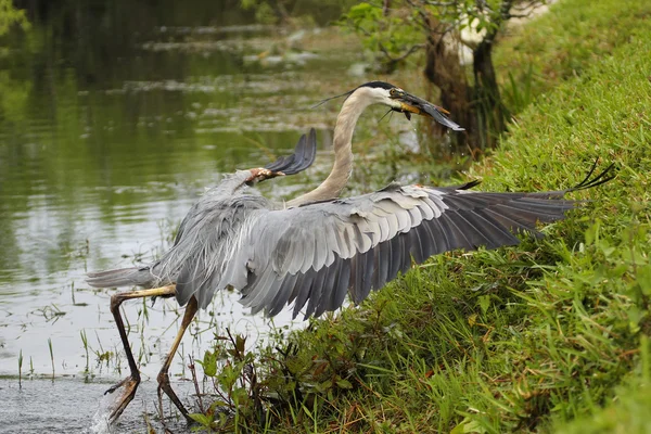
[[[131,345],[129,345],[129,339],[127,336],[127,331],[125,330],[125,323],[119,312],[119,305],[122,305],[123,302],[131,298],[143,298],[151,296],[171,296],[174,294],[176,294],[176,288],[175,285],[169,285],[163,288],[154,288],[152,290],[123,292],[113,294],[111,296],[111,314],[113,314],[113,318],[115,318],[115,326],[117,326],[119,339],[122,340],[123,346],[125,347],[125,354],[127,355],[127,360],[129,362],[129,370],[131,371],[129,376],[127,376],[126,379],[124,379],[123,381],[104,392],[105,395],[107,393],[113,393],[117,391],[123,385],[125,386],[125,392],[119,398],[117,407],[115,407],[108,416],[108,420],[111,421],[111,423],[113,423],[117,418],[119,418],[125,408],[127,408],[127,406],[136,395],[138,384],[140,384],[140,372],[138,371],[138,366],[136,365],[136,359],[133,358],[133,353],[131,352]]]

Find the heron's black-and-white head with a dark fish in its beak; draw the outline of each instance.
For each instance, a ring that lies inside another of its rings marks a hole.
[[[368,99],[370,104],[387,105],[395,112],[404,113],[407,119],[411,119],[411,114],[417,114],[433,118],[455,131],[464,130],[446,116],[449,114],[447,110],[412,95],[388,82],[370,81],[363,84],[348,93],[349,97],[354,94]]]

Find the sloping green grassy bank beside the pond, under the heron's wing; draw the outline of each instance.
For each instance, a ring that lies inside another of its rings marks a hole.
[[[600,3],[558,7],[586,29],[613,9],[623,16],[620,2]],[[586,54],[580,72],[537,98],[468,174],[484,179],[483,190],[556,190],[579,182],[599,156],[617,164],[618,178],[574,193],[590,201],[546,227],[546,239],[436,256],[261,360],[226,344],[231,362],[214,376],[240,408],[234,423],[278,432],[651,431],[651,7],[627,5],[626,28],[613,30],[626,37],[597,56],[582,44],[557,49],[567,34],[560,28],[538,29],[557,54]],[[244,366],[256,375],[240,375]],[[222,423],[232,430],[232,420]]]

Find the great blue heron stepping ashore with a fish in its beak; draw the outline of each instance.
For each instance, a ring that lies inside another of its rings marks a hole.
[[[315,190],[279,205],[247,184],[277,175],[282,162],[267,171],[238,171],[190,209],[174,246],[158,261],[89,275],[88,282],[98,288],[149,288],[115,294],[111,299],[131,371],[110,390],[126,385],[111,420],[126,408],[140,381],[118,310],[125,299],[176,295],[178,303],[187,306],[157,380],[158,396],[165,392],[188,417],[169,385],[167,370],[184,330],[216,291],[227,286],[239,290],[241,303],[253,312],[264,309],[273,316],[293,303],[294,316],[307,305],[305,317],[318,317],[341,307],[346,293],[360,303],[371,290],[381,289],[399,271],[406,272],[412,260],[420,264],[455,248],[518,244],[514,231],[538,234],[537,221],[562,219],[574,207],[574,201],[562,199],[565,193],[612,178],[607,175],[611,166],[590,179],[593,166],[578,186],[560,191],[469,191],[476,181],[446,188],[392,183],[374,193],[337,199],[353,169],[355,125],[369,105],[384,104],[408,118],[411,113],[420,114],[462,130],[439,107],[386,82],[368,82],[346,95],[334,129],[334,166]],[[308,144],[314,145],[312,141],[310,133]]]

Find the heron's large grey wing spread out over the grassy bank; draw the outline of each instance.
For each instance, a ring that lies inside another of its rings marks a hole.
[[[394,183],[357,197],[254,212],[222,283],[240,289],[241,302],[254,312],[273,316],[294,303],[294,316],[306,304],[306,317],[319,316],[341,307],[346,293],[360,303],[409,269],[412,259],[420,264],[455,248],[518,244],[518,231],[539,235],[538,221],[562,219],[575,204],[562,199],[570,190],[467,190],[474,184]]]

